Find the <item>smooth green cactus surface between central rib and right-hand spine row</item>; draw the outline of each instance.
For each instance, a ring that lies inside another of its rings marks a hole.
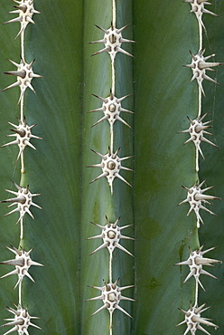
[[[188,268],[174,263],[198,246],[194,214],[177,206],[191,187],[193,144],[178,131],[197,115],[198,89],[190,84],[190,50],[198,44],[195,17],[189,5],[164,1],[134,5],[135,40],[135,334],[182,334],[194,280],[182,284]]]

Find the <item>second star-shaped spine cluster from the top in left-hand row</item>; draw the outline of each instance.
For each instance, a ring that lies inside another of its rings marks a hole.
[[[17,71],[9,71],[9,72],[4,72],[4,73],[17,77],[17,81],[7,86],[2,91],[6,91],[13,87],[20,86],[21,93],[20,93],[20,98],[18,101],[18,104],[19,104],[24,96],[24,93],[27,87],[29,87],[35,93],[35,90],[33,89],[33,86],[31,83],[33,81],[33,78],[42,78],[42,76],[40,74],[36,74],[33,72],[34,60],[28,63],[28,62],[25,62],[24,59],[22,58],[20,64],[17,62],[11,61],[11,60],[9,60],[9,62],[12,62],[12,64],[14,64],[14,66],[17,67]]]

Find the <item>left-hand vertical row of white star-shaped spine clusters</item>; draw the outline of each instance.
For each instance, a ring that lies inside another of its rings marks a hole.
[[[14,66],[16,66],[17,69],[16,71],[5,72],[5,74],[16,77],[16,81],[10,84],[9,86],[7,86],[4,90],[2,90],[2,91],[7,91],[8,89],[14,88],[16,86],[20,87],[20,98],[18,101],[18,104],[20,104],[20,120],[19,120],[18,125],[8,122],[11,126],[14,127],[14,129],[11,129],[14,133],[11,135],[8,135],[8,137],[14,137],[15,139],[11,142],[5,143],[1,147],[8,147],[14,144],[19,147],[19,153],[17,156],[17,160],[21,158],[22,176],[23,176],[23,173],[25,172],[24,149],[27,146],[35,149],[35,147],[31,143],[31,139],[42,139],[38,136],[33,135],[31,129],[33,129],[35,125],[33,124],[32,126],[29,126],[26,123],[24,112],[23,112],[24,93],[26,89],[29,88],[35,93],[33,89],[33,85],[32,85],[33,78],[42,77],[41,75],[33,72],[34,60],[32,62],[25,61],[25,50],[24,50],[25,29],[29,23],[34,24],[33,14],[40,14],[40,12],[34,9],[33,2],[34,2],[33,0],[21,0],[21,1],[14,0],[14,3],[16,4],[14,5],[15,10],[9,13],[18,14],[18,16],[12,20],[5,22],[5,24],[10,24],[10,23],[20,23],[21,24],[19,33],[15,37],[17,38],[19,35],[21,36],[21,61],[14,62],[14,61],[9,60],[9,62],[11,62]],[[8,207],[16,206],[13,210],[11,210],[5,216],[11,215],[15,212],[19,212],[19,219],[17,220],[16,224],[20,222],[20,226],[21,226],[20,238],[21,238],[21,244],[22,244],[23,243],[23,217],[24,215],[27,213],[33,218],[33,214],[30,211],[30,206],[35,206],[40,209],[42,209],[42,207],[33,203],[33,196],[40,196],[40,194],[31,193],[29,189],[29,185],[27,187],[23,187],[23,186],[19,186],[14,183],[14,186],[17,188],[17,191],[6,189],[6,191],[13,194],[14,197],[7,198],[6,200],[3,200],[1,202],[10,204]],[[15,259],[4,261],[4,262],[1,262],[0,264],[14,265],[15,269],[11,271],[10,273],[6,273],[1,278],[5,278],[12,274],[18,275],[18,280],[14,288],[16,288],[17,286],[19,287],[19,302],[18,302],[18,305],[15,306],[16,310],[13,308],[9,308],[9,307],[6,308],[7,311],[10,311],[11,313],[14,314],[14,319],[5,319],[5,321],[9,321],[9,322],[5,323],[2,327],[6,327],[6,326],[13,327],[11,330],[6,331],[5,335],[11,332],[14,332],[14,331],[17,331],[19,335],[23,335],[23,334],[29,335],[29,332],[28,332],[29,326],[33,326],[40,330],[41,328],[33,324],[31,321],[32,319],[39,319],[39,318],[31,317],[28,310],[23,308],[22,283],[23,283],[24,276],[27,276],[34,282],[33,277],[29,273],[29,268],[32,265],[42,266],[42,264],[34,262],[31,259],[30,254],[33,249],[31,249],[28,252],[23,250],[22,246],[20,246],[18,249],[16,249],[14,246],[8,247],[8,249],[15,254]]]

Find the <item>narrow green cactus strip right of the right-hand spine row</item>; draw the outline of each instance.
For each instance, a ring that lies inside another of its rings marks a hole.
[[[208,38],[206,35],[204,36],[203,47],[206,48],[208,53],[216,53],[215,62],[217,60],[223,61],[223,4],[220,1],[216,2],[216,4],[212,6],[212,12],[219,14],[220,17],[215,18],[210,15],[205,16],[204,23],[207,28]],[[215,29],[214,24],[216,26]],[[223,68],[218,69],[216,75],[212,76],[212,78],[215,78],[221,86],[219,87],[210,82],[205,82],[204,89],[208,94],[206,99],[203,99],[202,101],[202,110],[205,112],[209,111],[210,120],[213,120],[211,131],[214,134],[213,142],[215,142],[220,149],[216,150],[207,145],[203,147],[205,160],[201,159],[199,175],[201,180],[206,179],[208,185],[214,186],[214,196],[221,196],[223,198],[223,174],[220,168],[223,165]],[[212,252],[212,258],[223,261],[224,249],[221,238],[223,232],[223,201],[214,202],[210,209],[217,216],[210,217],[210,214],[205,215],[205,222],[208,224],[201,226],[200,240],[201,244],[205,244],[208,247],[217,246]],[[208,304],[212,306],[210,311],[207,311],[206,316],[219,325],[219,330],[213,330],[213,332],[211,329],[207,330],[211,333],[222,334],[224,327],[221,315],[223,300],[220,296],[223,294],[223,265],[216,265],[212,274],[218,277],[219,281],[214,282],[214,280],[209,277],[203,278],[206,292],[201,291],[200,299],[201,302],[208,302]]]

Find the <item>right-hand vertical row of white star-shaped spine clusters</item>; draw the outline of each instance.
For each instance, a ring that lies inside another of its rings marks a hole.
[[[198,115],[195,119],[190,120],[190,127],[189,129],[180,131],[182,133],[189,133],[190,139],[187,139],[185,143],[193,142],[195,148],[196,148],[196,171],[199,171],[199,153],[201,154],[202,158],[204,158],[203,153],[201,151],[201,142],[207,142],[213,147],[217,147],[216,144],[211,142],[209,139],[205,138],[204,135],[212,135],[210,132],[207,131],[210,126],[211,121],[204,122],[203,119],[207,115],[204,114],[201,116],[201,106],[202,106],[202,94],[205,96],[203,87],[202,87],[202,81],[208,80],[212,81],[215,84],[218,84],[217,81],[210,78],[206,71],[214,71],[213,68],[217,67],[219,65],[223,65],[223,63],[220,62],[207,62],[211,57],[214,57],[215,54],[211,54],[209,56],[204,56],[205,49],[203,49],[203,35],[202,31],[203,28],[205,29],[205,26],[202,22],[202,15],[203,14],[212,14],[217,16],[216,14],[210,12],[205,8],[205,5],[211,5],[209,1],[207,0],[184,0],[186,3],[189,3],[191,5],[191,13],[194,13],[196,15],[196,18],[198,20],[199,24],[199,51],[198,53],[194,54],[191,53],[191,64],[185,65],[186,67],[191,68],[192,70],[192,78],[191,81],[196,80],[198,83],[198,91],[199,91],[199,109],[198,109]],[[185,144],[184,143],[184,144]],[[208,209],[205,204],[210,204],[209,200],[213,199],[219,199],[217,196],[209,196],[205,195],[204,193],[212,187],[206,187],[201,188],[203,184],[205,183],[205,180],[202,183],[195,183],[192,187],[183,187],[187,191],[187,197],[179,204],[182,205],[184,203],[189,203],[190,209],[187,215],[190,215],[191,211],[194,211],[196,218],[197,218],[197,228],[200,228],[200,224],[203,224],[203,221],[201,219],[200,215],[200,209],[205,210],[209,212],[211,215],[215,215],[213,212]],[[208,310],[209,307],[204,308],[205,304],[202,304],[199,307],[199,285],[201,286],[202,290],[204,289],[204,286],[201,283],[200,276],[201,274],[205,274],[207,276],[210,276],[211,278],[217,279],[213,274],[208,273],[206,270],[203,269],[203,266],[213,266],[213,263],[221,263],[218,260],[205,258],[203,257],[204,254],[209,253],[211,250],[214,249],[214,247],[211,247],[208,250],[202,251],[203,246],[201,246],[199,249],[192,251],[190,248],[190,255],[189,258],[186,261],[182,261],[180,263],[176,263],[176,265],[188,265],[190,268],[190,273],[186,276],[184,282],[187,282],[191,277],[194,277],[196,282],[196,288],[195,288],[195,302],[194,304],[191,304],[190,309],[188,311],[184,311],[180,309],[184,315],[185,319],[184,321],[180,322],[178,326],[182,324],[186,324],[187,329],[184,331],[183,335],[188,334],[191,332],[191,335],[195,335],[197,330],[201,330],[205,334],[210,335],[210,333],[205,330],[202,325],[211,326],[215,329],[218,329],[219,327],[210,322],[210,319],[202,318],[201,313],[203,311]]]

